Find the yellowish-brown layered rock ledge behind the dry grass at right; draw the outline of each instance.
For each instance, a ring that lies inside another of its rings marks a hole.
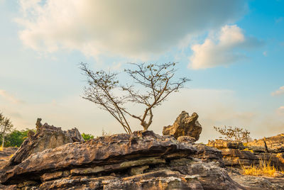
[[[266,142],[268,150],[266,150],[264,142]],[[283,134],[245,144],[246,146],[237,141],[219,139],[208,142],[209,146],[222,150],[224,164],[227,167],[240,168],[266,162],[280,170],[284,169]]]

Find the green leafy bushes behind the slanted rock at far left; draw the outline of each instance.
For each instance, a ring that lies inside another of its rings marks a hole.
[[[26,128],[26,130],[13,130],[11,133],[7,134],[4,147],[20,147],[23,141],[28,137],[29,130],[28,128]],[[33,131],[35,132],[34,129]]]

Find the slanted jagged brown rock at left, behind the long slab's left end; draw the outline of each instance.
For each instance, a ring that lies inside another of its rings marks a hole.
[[[9,160],[9,163],[6,164],[4,169],[9,169],[16,164],[20,164],[34,153],[42,152],[49,148],[59,147],[67,143],[82,141],[84,141],[84,139],[77,128],[65,131],[45,123],[38,128],[35,135],[30,136],[22,143],[21,147],[13,154],[13,157],[11,157],[11,160]]]

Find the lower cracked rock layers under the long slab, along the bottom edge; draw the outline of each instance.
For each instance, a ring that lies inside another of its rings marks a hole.
[[[82,189],[244,189],[230,179],[225,169],[200,160],[129,177],[66,177],[45,181],[39,189],[76,189],[79,186]]]

